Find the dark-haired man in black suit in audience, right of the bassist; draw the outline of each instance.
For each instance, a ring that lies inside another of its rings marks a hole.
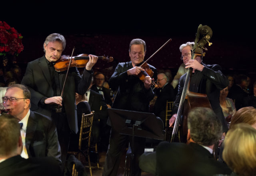
[[[242,100],[247,96],[246,92],[244,92],[244,88],[247,85],[247,76],[244,74],[238,75],[236,78],[236,85],[234,85],[228,94],[228,98],[234,100],[236,109],[240,109],[242,107]]]

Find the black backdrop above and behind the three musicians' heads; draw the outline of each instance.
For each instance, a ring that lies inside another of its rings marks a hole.
[[[194,41],[197,28],[202,24],[213,31],[210,40],[213,44],[206,46],[208,51],[203,62],[219,64],[224,74],[242,73],[255,80],[255,10],[250,4],[70,3],[9,5],[11,8],[1,11],[0,20],[24,36],[24,50],[16,58],[24,71],[27,62],[44,54],[42,46],[46,36],[57,32],[67,40],[63,55],[71,55],[75,47],[74,55],[114,57],[112,63],[100,60],[94,66],[95,70],[109,70],[110,76],[118,62],[130,60],[128,47],[133,38],[145,40],[145,59],[172,38],[148,63],[158,70],[170,69],[175,76],[182,63],[179,46]]]

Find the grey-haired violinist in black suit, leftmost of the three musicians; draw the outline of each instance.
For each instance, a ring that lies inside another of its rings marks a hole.
[[[54,63],[60,59],[65,46],[64,36],[56,33],[47,36],[43,46],[44,56],[28,63],[21,82],[28,86],[31,92],[31,110],[54,120],[63,163],[66,160],[70,132],[78,132],[75,92],[86,92],[93,75],[92,67],[98,60],[97,56],[89,54],[83,75],[79,74],[76,67],[71,67],[66,78],[67,71],[56,72],[54,69]],[[61,97],[65,78],[66,83]],[[59,106],[62,106],[62,109],[56,111]]]

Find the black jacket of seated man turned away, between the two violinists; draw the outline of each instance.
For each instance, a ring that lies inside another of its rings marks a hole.
[[[94,120],[106,120],[108,118],[108,107],[104,102],[102,94],[91,89],[88,103],[91,111],[94,111]]]

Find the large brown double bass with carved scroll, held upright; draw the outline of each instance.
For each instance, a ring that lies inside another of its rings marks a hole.
[[[207,48],[205,48],[204,46],[207,43],[209,46],[212,44],[211,42],[209,42],[211,37],[212,37],[212,29],[209,26],[202,26],[202,24],[200,24],[198,26],[198,30],[196,33],[196,39],[194,42],[195,44],[192,50],[191,59],[195,59],[198,56],[202,57],[205,55],[205,53],[203,53],[203,50],[207,51]],[[188,111],[190,109],[194,107],[211,108],[210,102],[206,94],[190,92],[189,86],[190,86],[192,71],[193,71],[193,68],[188,68],[188,73],[186,75],[186,80],[185,80],[182,95],[180,98],[180,104],[178,107],[178,112],[177,112],[176,120],[174,123],[174,128],[172,131],[170,142],[174,142],[174,138],[178,137],[180,142],[186,143],[186,140],[187,140],[186,136],[188,132],[187,117],[188,117]],[[182,116],[182,129],[180,130],[180,136],[178,136],[178,128],[179,128],[181,116]]]

